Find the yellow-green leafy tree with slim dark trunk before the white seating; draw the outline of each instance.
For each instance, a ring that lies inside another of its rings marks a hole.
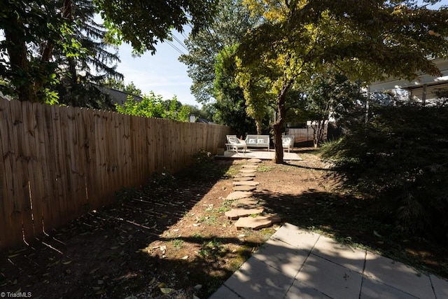
[[[440,74],[427,57],[448,53],[447,8],[431,11],[416,1],[381,0],[245,3],[262,15],[262,24],[241,41],[241,72],[265,74],[276,92],[275,145],[281,144],[288,90],[304,85],[323,64],[365,82],[385,76],[410,79],[418,71]],[[275,162],[283,162],[281,146],[276,146]]]

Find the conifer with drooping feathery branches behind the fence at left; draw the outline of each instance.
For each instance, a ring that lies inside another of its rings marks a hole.
[[[106,28],[95,22],[95,7],[90,0],[62,1],[66,20],[71,22],[72,34],[66,39],[76,41],[80,48],[77,53],[64,55],[58,48],[52,50],[53,60],[58,65],[60,81],[56,85],[59,103],[70,106],[87,106],[96,109],[113,109],[107,95],[103,95],[94,84],[106,79],[123,81],[123,74],[116,71],[120,62],[117,49],[105,43]]]

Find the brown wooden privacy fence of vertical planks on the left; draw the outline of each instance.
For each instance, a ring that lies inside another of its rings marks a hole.
[[[122,187],[177,172],[230,127],[0,99],[0,249],[111,203]]]

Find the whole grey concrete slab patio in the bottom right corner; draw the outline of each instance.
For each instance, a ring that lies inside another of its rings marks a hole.
[[[285,223],[211,299],[448,298],[448,281]]]

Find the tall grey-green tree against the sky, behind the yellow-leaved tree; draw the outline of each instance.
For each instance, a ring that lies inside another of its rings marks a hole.
[[[209,27],[188,36],[185,41],[188,54],[181,55],[179,60],[188,66],[188,76],[193,81],[190,89],[197,102],[205,104],[214,98],[218,53],[225,47],[239,43],[256,22],[258,18],[251,18],[242,0],[220,0]]]

